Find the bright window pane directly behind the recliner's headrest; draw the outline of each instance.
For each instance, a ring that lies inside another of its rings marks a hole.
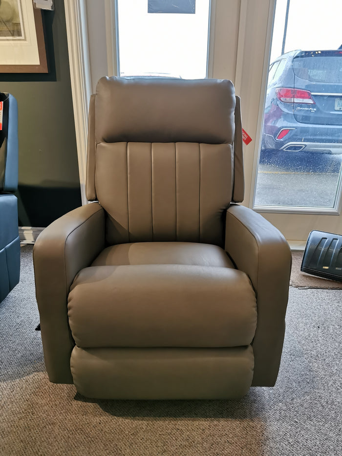
[[[118,75],[206,78],[210,0],[116,0]]]

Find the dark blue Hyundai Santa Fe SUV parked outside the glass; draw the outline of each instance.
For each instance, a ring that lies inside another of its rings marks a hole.
[[[269,69],[261,153],[342,154],[342,49],[287,52]]]

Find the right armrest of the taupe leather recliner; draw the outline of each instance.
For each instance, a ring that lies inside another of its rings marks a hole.
[[[256,292],[257,325],[252,343],[252,386],[277,380],[285,333],[291,251],[282,234],[252,209],[232,204],[226,215],[225,250]]]

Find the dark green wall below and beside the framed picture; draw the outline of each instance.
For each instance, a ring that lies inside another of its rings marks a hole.
[[[18,101],[19,226],[45,227],[81,205],[64,1],[43,11],[48,74],[0,74]]]

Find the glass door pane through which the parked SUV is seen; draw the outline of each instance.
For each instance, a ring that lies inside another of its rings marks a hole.
[[[258,211],[340,210],[341,3],[326,0],[319,15],[304,3],[276,2],[254,198]]]

